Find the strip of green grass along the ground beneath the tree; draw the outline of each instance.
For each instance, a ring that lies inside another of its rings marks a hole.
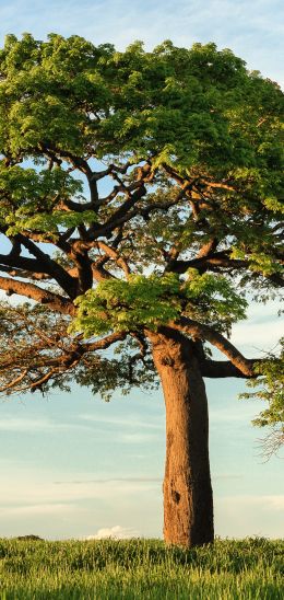
[[[0,540],[0,598],[284,598],[284,541],[216,540],[189,551],[157,540]]]

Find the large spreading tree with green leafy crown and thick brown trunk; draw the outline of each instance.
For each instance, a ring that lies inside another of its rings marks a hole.
[[[283,94],[214,44],[9,35],[0,77],[2,391],[161,381],[165,540],[212,542],[204,378],[275,365],[229,332],[283,285]]]

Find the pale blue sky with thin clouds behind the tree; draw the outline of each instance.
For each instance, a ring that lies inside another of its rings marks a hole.
[[[4,35],[79,34],[125,49],[215,42],[249,69],[284,84],[281,0],[1,0]],[[0,240],[0,245],[1,245]],[[3,249],[1,249],[3,250]],[[275,345],[276,307],[257,305],[234,328],[247,356]],[[215,532],[222,538],[284,536],[283,459],[264,462],[261,409],[237,400],[245,383],[206,380]],[[0,536],[46,539],[162,536],[165,413],[161,392],[116,393],[105,403],[85,389],[0,401]]]

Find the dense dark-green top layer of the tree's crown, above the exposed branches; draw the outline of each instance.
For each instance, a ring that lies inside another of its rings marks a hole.
[[[280,90],[214,44],[145,53],[135,43],[116,53],[79,36],[8,36],[0,70],[0,148],[14,157],[44,142],[81,155],[88,147],[98,158],[154,153],[218,177],[259,164],[265,178],[272,157],[280,166]]]

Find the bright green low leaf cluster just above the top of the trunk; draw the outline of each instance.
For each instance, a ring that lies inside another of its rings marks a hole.
[[[225,277],[199,275],[190,269],[186,280],[177,274],[130,276],[128,281],[105,280],[76,298],[78,314],[70,332],[85,337],[110,331],[156,330],[180,314],[229,328],[245,319],[247,302]]]

